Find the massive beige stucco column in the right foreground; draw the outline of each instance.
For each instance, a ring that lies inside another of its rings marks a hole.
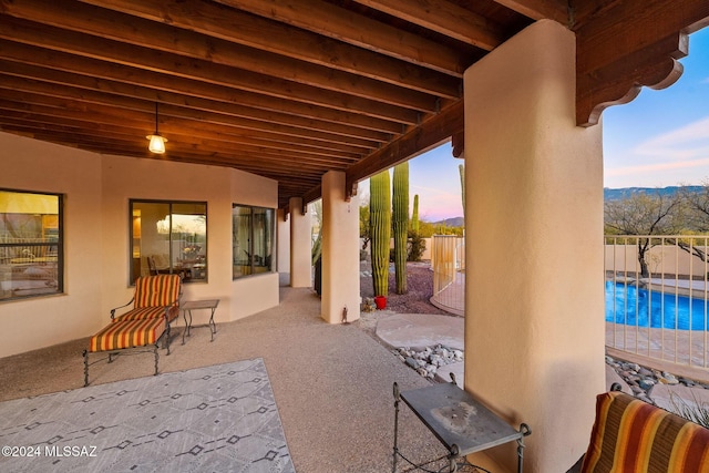
[[[574,68],[540,21],[464,76],[465,389],[530,424],[538,473],[578,460],[605,389],[602,130],[575,126]]]

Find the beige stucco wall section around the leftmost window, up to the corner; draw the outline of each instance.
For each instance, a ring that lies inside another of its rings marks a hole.
[[[99,156],[69,147],[0,133],[0,187],[64,194],[64,257],[71,261],[64,295],[0,302],[2,357],[83,337],[99,326],[102,187]]]

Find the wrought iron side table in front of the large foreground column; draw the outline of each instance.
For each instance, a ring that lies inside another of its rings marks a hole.
[[[530,435],[532,430],[525,423],[515,430],[499,415],[479,402],[466,391],[455,384],[455,378],[451,383],[433,384],[425,388],[400,392],[394,382],[394,449],[392,473],[397,473],[397,462],[401,457],[410,469],[405,471],[430,471],[424,466],[436,461],[448,460],[448,465],[436,472],[456,472],[463,465],[473,466],[465,456],[502,445],[507,442],[517,442],[517,472],[522,473],[524,442],[523,438]],[[417,414],[425,426],[449,451],[448,455],[432,461],[414,464],[403,456],[399,450],[399,403],[403,402]],[[476,467],[477,471],[486,471]]]

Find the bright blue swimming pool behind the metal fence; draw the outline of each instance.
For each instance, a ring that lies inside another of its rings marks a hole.
[[[706,330],[708,308],[705,299],[606,281],[607,322],[647,327],[649,318],[651,328],[688,330],[691,312],[691,330]]]

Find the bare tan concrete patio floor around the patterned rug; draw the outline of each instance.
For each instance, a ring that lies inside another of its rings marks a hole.
[[[165,356],[161,350],[161,372],[263,358],[296,471],[390,471],[392,383],[397,381],[402,390],[430,385],[390,348],[431,343],[464,348],[464,319],[374,313],[374,331],[363,328],[371,322],[369,317],[363,317],[361,323],[328,325],[320,318],[320,299],[315,292],[284,286],[286,282],[281,282],[278,307],[243,320],[218,323],[214,342],[209,341],[206,327],[196,327],[183,346],[183,327],[176,327],[172,354]],[[206,317],[195,320],[199,322],[206,322]],[[86,343],[88,339],[80,339],[0,359],[0,401],[81,389],[81,352]],[[459,368],[456,377],[462,383],[462,363]],[[92,383],[151,376],[152,358],[119,357],[111,364],[92,366],[90,374]],[[608,367],[607,384],[618,380]],[[627,387],[625,390],[628,391]],[[658,395],[686,394],[684,387],[656,387],[656,390]],[[709,390],[692,392],[709,402]],[[445,453],[407,408],[401,409],[400,422],[400,448],[412,460],[419,462]]]

